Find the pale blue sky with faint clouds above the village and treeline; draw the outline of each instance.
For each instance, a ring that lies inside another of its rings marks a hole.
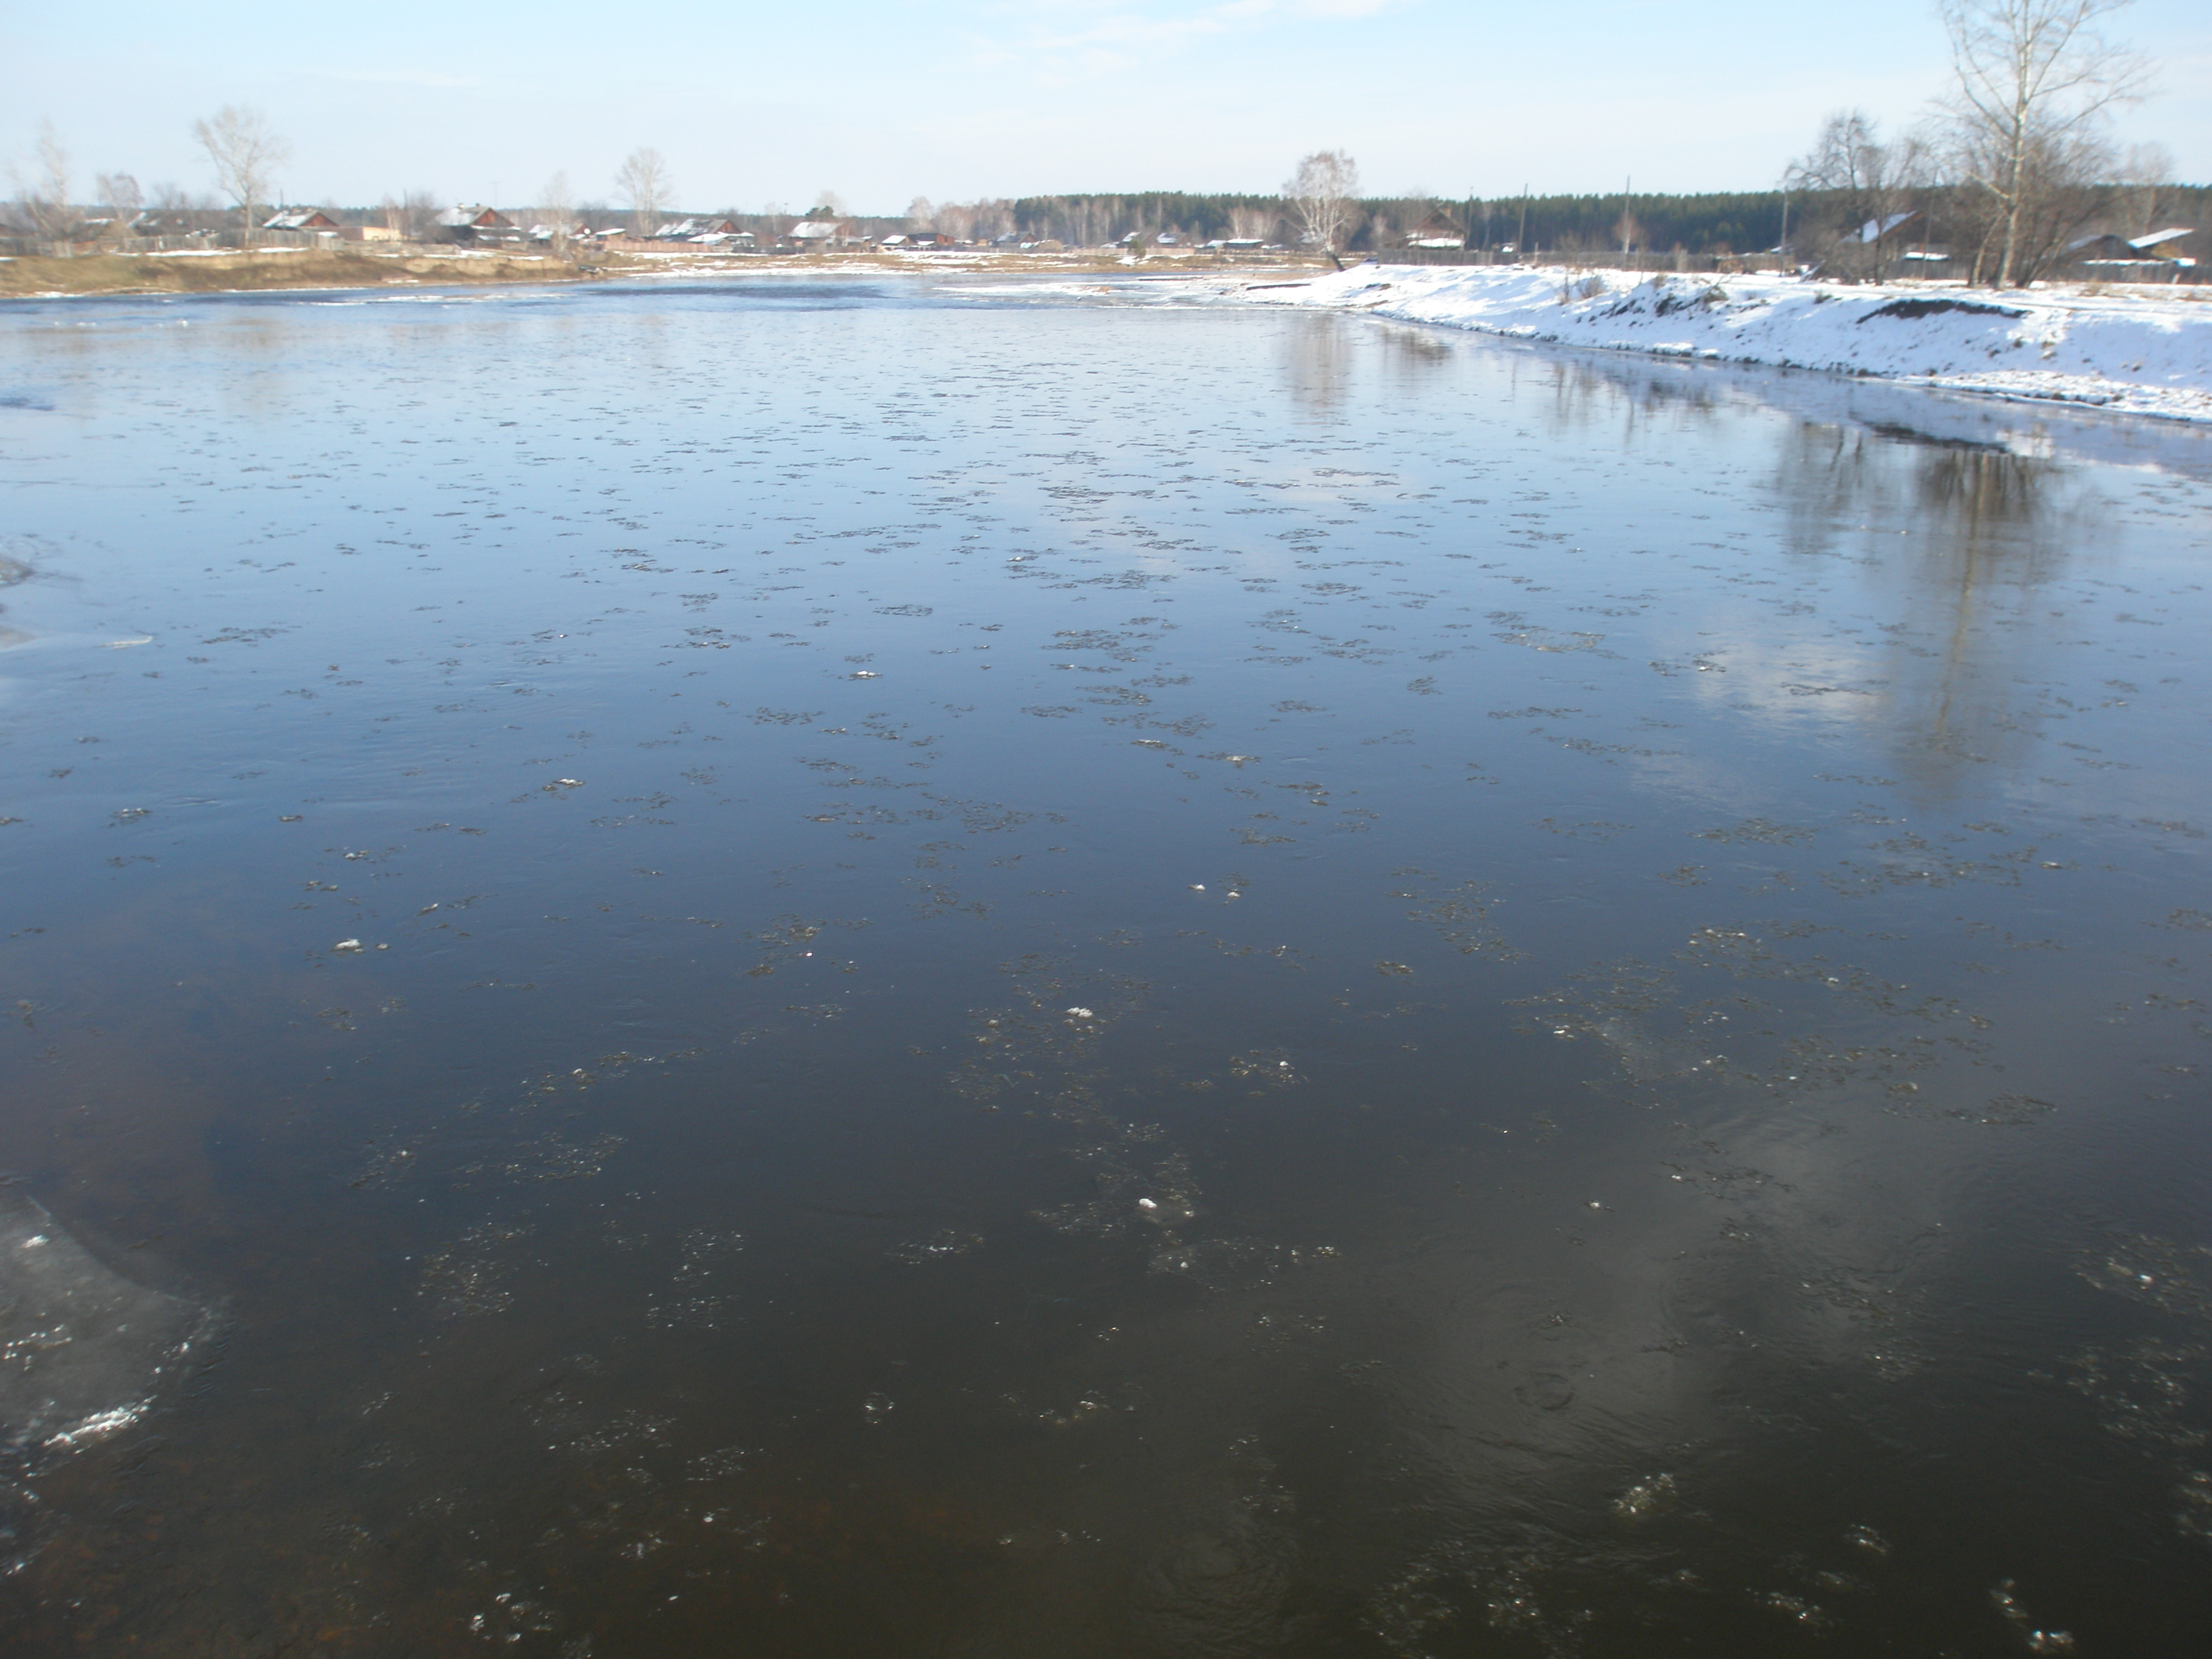
[[[2117,31],[2163,95],[2121,117],[2212,181],[2212,2]],[[208,188],[190,122],[257,104],[294,201],[611,197],[639,144],[692,208],[916,195],[1274,190],[1343,146],[1369,190],[1767,188],[1820,117],[1913,119],[1929,0],[0,0],[0,159],[51,115],[95,170]]]

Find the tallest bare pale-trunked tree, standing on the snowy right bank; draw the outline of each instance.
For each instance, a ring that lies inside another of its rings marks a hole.
[[[2026,279],[2031,223],[2101,157],[2097,126],[2150,64],[2099,24],[2128,0],[1938,0],[1951,35],[1951,159],[1997,208],[1997,288]]]

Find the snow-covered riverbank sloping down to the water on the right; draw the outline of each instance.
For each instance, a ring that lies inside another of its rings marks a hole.
[[[2192,292],[2205,299],[2188,299]],[[1254,283],[1234,296],[2212,425],[2212,290],[1995,294],[1792,276],[1367,263],[1303,283]]]

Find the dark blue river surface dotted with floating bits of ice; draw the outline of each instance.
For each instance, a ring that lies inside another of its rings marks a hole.
[[[9,1652],[2212,1646],[2205,436],[1135,290],[0,341]]]

